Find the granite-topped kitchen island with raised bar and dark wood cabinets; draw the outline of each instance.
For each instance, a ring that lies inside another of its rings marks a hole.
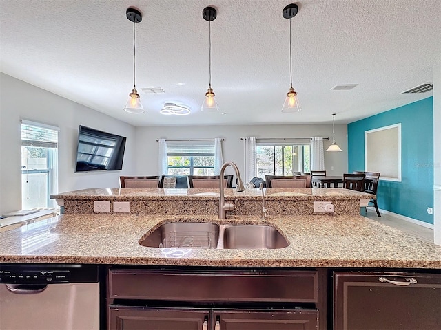
[[[263,219],[260,190],[245,195],[228,191],[227,199],[240,199],[238,212],[218,219],[214,191],[186,191],[183,197],[163,193],[57,195],[68,206],[65,214],[0,234],[0,265],[99,265],[103,329],[140,329],[156,325],[152,322],[162,322],[160,329],[184,324],[191,325],[188,329],[441,325],[441,247],[351,214],[360,212],[360,201],[371,195],[268,189],[268,217]],[[106,200],[112,206],[129,200],[130,212],[94,212],[93,201]],[[170,212],[173,201],[178,203]],[[317,214],[314,201],[331,201],[336,211]],[[160,214],[151,214],[152,206]],[[339,209],[349,214],[336,214]],[[175,222],[269,225],[289,245],[255,250],[139,244],[161,225]],[[397,301],[407,302],[404,309]]]

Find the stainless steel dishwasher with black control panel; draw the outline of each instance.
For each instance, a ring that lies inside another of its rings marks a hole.
[[[99,329],[98,274],[96,265],[0,264],[0,329]]]

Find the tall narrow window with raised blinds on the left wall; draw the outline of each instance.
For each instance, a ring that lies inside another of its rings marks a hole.
[[[57,127],[21,122],[21,208],[54,207],[58,190]]]

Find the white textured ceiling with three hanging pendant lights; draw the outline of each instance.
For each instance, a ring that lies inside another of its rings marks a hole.
[[[432,82],[441,56],[441,1],[302,0],[292,23],[300,113],[281,113],[289,88],[289,20],[280,0],[0,0],[1,71],[134,126],[347,123],[432,95],[400,94]],[[221,112],[202,113],[208,87]],[[145,113],[125,113],[136,87]],[[332,91],[337,84],[358,84]],[[145,94],[162,87],[164,94]],[[166,102],[187,116],[161,115]]]

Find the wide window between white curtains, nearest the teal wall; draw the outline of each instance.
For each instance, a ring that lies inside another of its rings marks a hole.
[[[258,177],[265,175],[294,175],[309,173],[309,144],[257,143],[256,170]]]

